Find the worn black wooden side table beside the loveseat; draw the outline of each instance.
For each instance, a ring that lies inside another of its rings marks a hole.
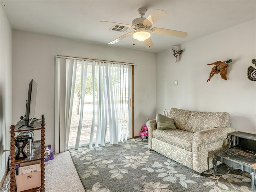
[[[256,183],[256,135],[235,132],[231,134],[230,148],[214,154],[212,159],[214,176],[217,161],[251,174],[252,192]]]

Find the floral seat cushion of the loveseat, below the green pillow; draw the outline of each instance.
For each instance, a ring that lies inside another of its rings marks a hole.
[[[192,151],[192,132],[176,129],[176,130],[159,130],[152,132],[153,137],[164,142],[170,143],[177,147]]]

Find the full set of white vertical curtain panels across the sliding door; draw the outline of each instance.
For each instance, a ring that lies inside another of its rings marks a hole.
[[[77,66],[81,71],[77,72]],[[89,62],[86,60],[56,57],[55,83],[55,152],[68,149],[70,122],[74,99],[76,75],[81,75],[80,116],[77,125],[75,148],[80,146],[84,127],[84,103],[88,66],[92,68],[93,112],[89,146],[105,146],[106,142],[118,144],[127,140],[130,131],[128,102],[131,79],[131,66],[110,62]],[[129,94],[128,94],[129,93]],[[95,136],[96,134],[96,136]],[[109,138],[107,137],[109,135]]]

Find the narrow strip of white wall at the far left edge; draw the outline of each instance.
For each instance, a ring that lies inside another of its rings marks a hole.
[[[8,167],[12,122],[12,28],[0,6],[0,181]]]

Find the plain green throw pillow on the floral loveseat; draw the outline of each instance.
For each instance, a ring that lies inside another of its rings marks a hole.
[[[156,114],[156,126],[159,130],[175,130],[173,118],[168,118],[162,114]]]

